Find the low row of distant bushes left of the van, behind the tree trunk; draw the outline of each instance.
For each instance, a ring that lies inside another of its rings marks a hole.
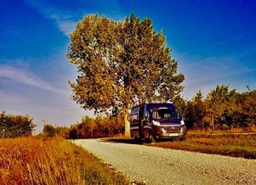
[[[71,127],[45,125],[43,134],[47,137],[59,135],[65,138],[111,137],[124,132],[123,117],[82,116],[82,121]]]

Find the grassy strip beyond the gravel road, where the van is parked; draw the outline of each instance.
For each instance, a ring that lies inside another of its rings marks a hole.
[[[125,137],[109,138],[113,142],[133,143]],[[222,154],[233,157],[256,159],[256,132],[232,131],[191,131],[184,141],[161,141],[138,143],[167,149],[180,149],[207,154]]]

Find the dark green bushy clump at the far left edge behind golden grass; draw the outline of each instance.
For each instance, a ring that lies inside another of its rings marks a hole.
[[[31,136],[35,126],[29,115],[0,114],[0,137]]]

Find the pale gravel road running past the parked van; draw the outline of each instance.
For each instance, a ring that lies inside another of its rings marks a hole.
[[[256,160],[161,149],[100,139],[76,140],[131,182],[146,184],[256,184]]]

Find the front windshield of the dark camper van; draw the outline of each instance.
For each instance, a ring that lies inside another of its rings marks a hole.
[[[180,120],[176,109],[152,109],[151,114],[154,120]]]

